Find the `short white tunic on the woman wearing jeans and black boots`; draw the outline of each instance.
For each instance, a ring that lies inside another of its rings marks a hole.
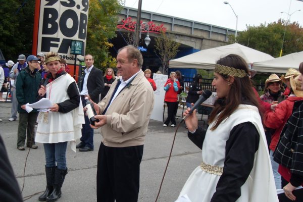
[[[65,74],[46,85],[46,98],[53,104],[62,103],[69,99],[68,86],[75,82],[69,75]],[[68,113],[40,112],[38,115],[38,127],[35,141],[40,143],[58,143],[69,141],[72,150],[76,151],[75,140],[81,137],[81,129],[84,121],[84,113],[80,98],[78,108]]]

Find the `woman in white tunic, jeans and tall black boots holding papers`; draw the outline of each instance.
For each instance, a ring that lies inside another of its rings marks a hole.
[[[47,73],[38,93],[53,103],[53,107],[38,115],[36,142],[44,145],[46,190],[40,201],[56,201],[67,174],[66,148],[70,142],[76,151],[75,140],[81,137],[84,114],[76,81],[60,67],[57,53],[46,54]],[[57,164],[57,165],[56,165]]]

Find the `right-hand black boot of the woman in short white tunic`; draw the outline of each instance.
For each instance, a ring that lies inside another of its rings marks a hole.
[[[55,181],[54,181],[54,190],[51,195],[46,197],[47,202],[57,201],[61,197],[61,187],[67,174],[66,170],[60,170],[56,167],[55,170]]]

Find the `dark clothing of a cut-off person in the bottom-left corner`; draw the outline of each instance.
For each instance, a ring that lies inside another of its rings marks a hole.
[[[3,202],[23,201],[4,142],[0,136],[0,200]]]

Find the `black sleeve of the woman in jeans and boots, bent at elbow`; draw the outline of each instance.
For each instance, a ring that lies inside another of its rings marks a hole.
[[[80,104],[80,93],[77,88],[76,82],[72,82],[67,88],[67,94],[70,97],[62,103],[58,103],[59,112],[68,113],[77,107]]]

